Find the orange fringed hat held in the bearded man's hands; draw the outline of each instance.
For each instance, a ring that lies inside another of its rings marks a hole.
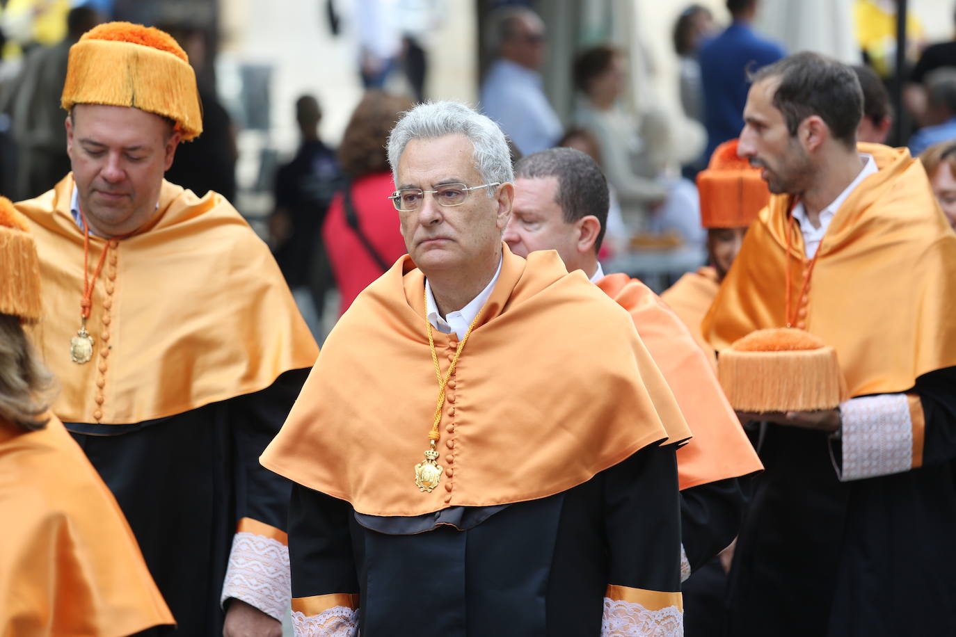
[[[717,375],[738,412],[834,409],[846,397],[836,350],[802,329],[750,332],[720,352]]]

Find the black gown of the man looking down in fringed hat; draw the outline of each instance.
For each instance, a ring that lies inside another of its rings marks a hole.
[[[120,504],[177,626],[142,633],[221,635],[236,524],[285,530],[290,483],[259,464],[309,370],[265,390],[132,425],[65,423]]]

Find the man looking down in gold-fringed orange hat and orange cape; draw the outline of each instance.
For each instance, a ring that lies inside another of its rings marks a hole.
[[[17,204],[45,280],[35,337],[62,387],[54,414],[119,501],[176,634],[278,635],[290,487],[257,457],[315,341],[236,210],[163,180],[202,132],[172,37],[85,33],[62,105],[73,172]]]

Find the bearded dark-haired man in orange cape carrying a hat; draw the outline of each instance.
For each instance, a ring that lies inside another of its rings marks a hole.
[[[848,67],[798,53],[754,76],[738,153],[771,201],[704,320],[837,353],[837,409],[761,414],[728,633],[941,635],[956,626],[956,235],[905,149],[853,143]],[[719,359],[718,359],[719,360]]]

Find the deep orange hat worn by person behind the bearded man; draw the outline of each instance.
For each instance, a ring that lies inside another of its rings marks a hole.
[[[706,228],[747,227],[771,197],[760,170],[737,157],[737,139],[714,149],[706,170],[697,175],[697,191]]]

